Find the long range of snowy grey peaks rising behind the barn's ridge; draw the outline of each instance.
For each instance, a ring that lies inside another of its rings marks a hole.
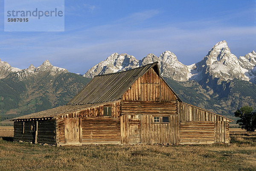
[[[128,70],[156,61],[161,75],[176,81],[207,81],[217,78],[221,82],[237,78],[255,82],[256,79],[256,53],[253,51],[238,59],[230,52],[226,41],[216,43],[202,61],[192,65],[182,64],[170,51],[163,52],[159,57],[150,53],[140,61],[134,56],[114,53],[88,70],[84,77],[93,78],[98,74]]]

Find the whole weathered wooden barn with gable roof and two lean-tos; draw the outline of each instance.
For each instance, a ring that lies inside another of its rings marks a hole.
[[[229,143],[233,121],[181,101],[157,63],[97,75],[67,105],[11,120],[15,141],[58,146]]]

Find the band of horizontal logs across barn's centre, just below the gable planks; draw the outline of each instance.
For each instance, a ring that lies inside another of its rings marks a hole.
[[[172,114],[177,115],[177,103],[151,101],[124,101],[121,104],[122,114]]]

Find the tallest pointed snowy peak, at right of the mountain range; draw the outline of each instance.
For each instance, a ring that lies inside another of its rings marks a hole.
[[[197,64],[190,79],[202,81],[205,78],[218,78],[218,82],[233,80],[235,78],[241,80],[249,79],[244,75],[243,68],[239,64],[236,55],[230,52],[226,41],[215,44],[204,59]]]

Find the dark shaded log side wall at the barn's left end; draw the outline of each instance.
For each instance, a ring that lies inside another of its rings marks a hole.
[[[14,122],[14,130],[14,141],[56,144],[54,119]]]

